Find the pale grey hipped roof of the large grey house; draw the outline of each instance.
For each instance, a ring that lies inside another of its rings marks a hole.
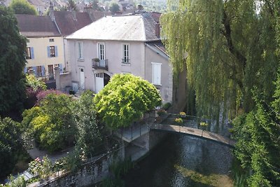
[[[155,20],[148,14],[106,16],[74,32],[66,39],[158,41]]]

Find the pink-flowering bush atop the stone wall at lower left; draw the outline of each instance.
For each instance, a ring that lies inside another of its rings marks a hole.
[[[29,163],[29,170],[31,174],[38,174],[41,178],[46,178],[52,173],[52,162],[47,156],[42,160],[36,158]]]

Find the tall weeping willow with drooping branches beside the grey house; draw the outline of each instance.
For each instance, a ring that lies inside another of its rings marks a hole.
[[[162,36],[174,75],[184,64],[198,115],[231,117],[250,111],[251,89],[271,97],[278,60],[274,1],[169,1]],[[185,58],[186,57],[186,58]]]

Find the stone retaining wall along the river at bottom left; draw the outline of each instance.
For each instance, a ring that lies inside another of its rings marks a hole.
[[[83,164],[76,172],[67,172],[38,186],[89,186],[93,183],[102,181],[109,175],[109,166],[116,160],[124,160],[125,149],[121,146],[111,153],[103,155],[97,160],[93,160]]]

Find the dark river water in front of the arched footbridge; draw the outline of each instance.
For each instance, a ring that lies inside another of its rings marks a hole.
[[[125,186],[231,187],[231,161],[227,146],[170,134],[125,176]]]

